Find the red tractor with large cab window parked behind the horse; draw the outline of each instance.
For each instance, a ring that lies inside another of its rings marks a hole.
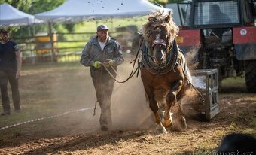
[[[193,0],[177,6],[177,42],[197,69],[217,68],[219,86],[223,78],[245,74],[248,91],[256,93],[256,1]]]

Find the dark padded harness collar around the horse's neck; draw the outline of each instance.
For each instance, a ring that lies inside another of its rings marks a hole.
[[[145,69],[152,74],[166,74],[177,64],[178,59],[178,47],[176,41],[174,40],[172,43],[172,49],[169,50],[166,63],[163,65],[154,64],[150,55],[150,48],[148,48],[148,43],[143,41],[142,43],[142,65]]]

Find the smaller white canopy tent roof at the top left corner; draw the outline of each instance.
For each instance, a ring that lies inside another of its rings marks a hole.
[[[0,26],[26,26],[39,22],[33,15],[19,11],[11,5],[0,5]]]

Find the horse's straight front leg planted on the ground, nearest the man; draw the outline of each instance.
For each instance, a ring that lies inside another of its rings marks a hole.
[[[157,105],[156,100],[154,99],[154,92],[149,87],[145,87],[145,91],[146,91],[146,97],[149,102],[149,108],[151,108],[151,111],[153,111],[154,113],[155,122],[157,124],[157,128],[156,128],[157,134],[167,133],[166,129],[161,123],[161,117],[158,113],[159,107]]]

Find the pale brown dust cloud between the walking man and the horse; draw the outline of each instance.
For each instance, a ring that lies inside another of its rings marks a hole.
[[[127,78],[132,66],[128,62],[120,66],[118,73],[121,77],[117,79]],[[111,110],[114,129],[148,129],[154,124],[140,74],[138,78],[135,74],[124,84],[115,84]]]

